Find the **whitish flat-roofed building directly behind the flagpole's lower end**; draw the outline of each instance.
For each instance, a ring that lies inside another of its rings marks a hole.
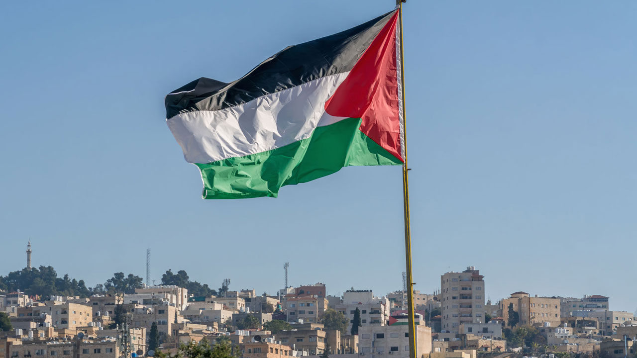
[[[416,357],[431,352],[431,328],[425,326],[422,316],[417,314],[416,324]],[[359,328],[359,354],[382,355],[392,354],[396,358],[408,358],[409,326],[407,316],[392,316],[396,319],[389,326],[366,326]],[[392,321],[394,321],[392,319]]]

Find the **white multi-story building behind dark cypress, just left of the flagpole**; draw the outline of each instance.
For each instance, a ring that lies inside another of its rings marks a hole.
[[[347,290],[343,294],[343,303],[336,304],[334,307],[349,320],[347,331],[352,329],[356,308],[361,312],[362,326],[385,326],[388,324],[390,303],[387,297],[374,297],[371,290]]]

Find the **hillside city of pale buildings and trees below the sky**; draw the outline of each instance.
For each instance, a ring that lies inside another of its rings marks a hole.
[[[174,354],[200,342],[227,345],[247,358],[408,357],[404,289],[380,295],[351,289],[334,296],[326,283],[288,285],[286,275],[285,287],[258,295],[254,289],[231,290],[230,280],[210,289],[191,282],[185,271],[171,270],[162,285],[115,273],[87,288],[82,280],[58,277],[53,268],[33,268],[31,253],[29,243],[27,267],[0,276],[0,358]],[[492,303],[485,299],[488,287],[485,275],[469,266],[441,273],[440,287],[431,293],[415,290],[417,356],[624,358],[633,352],[637,319],[612,310],[609,297],[515,291]]]

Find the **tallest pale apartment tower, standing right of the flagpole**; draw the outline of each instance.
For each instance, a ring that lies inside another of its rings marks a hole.
[[[484,276],[469,266],[440,277],[442,329],[458,333],[463,323],[484,322]]]

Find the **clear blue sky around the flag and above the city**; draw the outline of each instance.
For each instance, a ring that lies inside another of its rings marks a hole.
[[[278,199],[203,201],[164,96],[393,8],[357,1],[13,1],[0,31],[0,274],[90,285],[185,269],[231,289],[401,289],[401,171],[345,168]],[[473,265],[492,300],[604,294],[634,311],[634,1],[404,7],[414,280]]]

